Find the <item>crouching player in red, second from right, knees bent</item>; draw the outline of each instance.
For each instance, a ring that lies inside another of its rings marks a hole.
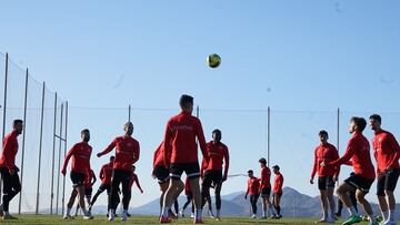
[[[354,206],[348,198],[348,193],[353,190],[357,190],[356,197],[367,212],[370,218],[370,224],[378,225],[371,205],[364,198],[376,177],[370,156],[370,145],[366,136],[362,135],[362,131],[366,129],[366,125],[367,121],[363,117],[352,117],[350,120],[349,126],[349,132],[352,134],[352,136],[348,143],[344,155],[333,162],[321,163],[321,166],[340,166],[341,164],[348,164],[352,165],[354,168],[356,175],[347,178],[344,183],[340,184],[337,190],[340,200],[349,208],[349,213],[351,215],[350,218],[343,223],[343,225],[361,222],[361,217],[358,215]]]

